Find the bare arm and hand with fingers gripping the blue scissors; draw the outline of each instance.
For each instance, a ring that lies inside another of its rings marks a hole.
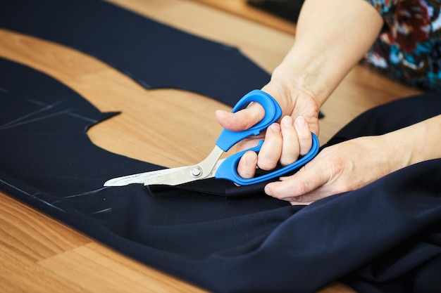
[[[290,164],[309,151],[311,131],[319,132],[321,105],[373,44],[382,25],[378,12],[364,0],[305,1],[294,46],[262,89],[278,100],[287,117],[262,134],[266,138],[259,157],[244,155],[238,167],[242,177],[254,176],[256,166],[268,170],[278,162]],[[216,112],[218,122],[232,131],[248,129],[263,115],[259,104],[235,114]],[[256,145],[261,137],[244,141],[239,150]]]

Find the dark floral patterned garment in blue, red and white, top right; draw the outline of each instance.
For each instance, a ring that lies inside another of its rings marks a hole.
[[[385,26],[362,63],[421,89],[441,91],[441,0],[366,0]]]

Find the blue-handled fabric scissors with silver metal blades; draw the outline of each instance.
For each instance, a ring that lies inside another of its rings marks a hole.
[[[122,186],[130,183],[142,183],[144,185],[179,185],[211,177],[228,179],[239,185],[250,185],[268,181],[269,179],[282,176],[289,171],[298,169],[317,155],[319,142],[317,136],[312,134],[311,150],[296,162],[254,178],[242,178],[237,174],[237,164],[239,164],[240,158],[244,155],[244,152],[247,152],[248,150],[238,152],[226,159],[219,159],[223,152],[227,152],[233,145],[242,141],[244,138],[258,135],[262,130],[267,129],[268,126],[276,122],[282,115],[282,110],[277,101],[268,93],[260,90],[250,91],[243,96],[239,102],[237,102],[235,107],[232,108],[232,112],[237,112],[246,108],[251,102],[259,103],[265,109],[265,117],[263,117],[261,122],[245,131],[229,131],[228,129],[223,129],[221,135],[216,141],[215,147],[202,162],[192,166],[163,169],[113,178],[106,181],[104,186]],[[262,144],[263,141],[260,141],[259,145],[250,148],[249,150],[259,152]]]

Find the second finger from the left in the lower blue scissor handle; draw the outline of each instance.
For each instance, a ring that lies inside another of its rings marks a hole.
[[[274,169],[279,162],[281,153],[282,133],[280,132],[280,125],[273,123],[266,129],[265,142],[259,151],[257,165],[263,170]]]

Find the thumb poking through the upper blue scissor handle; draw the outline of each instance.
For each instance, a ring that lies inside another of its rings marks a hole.
[[[265,117],[265,110],[259,103],[251,103],[244,110],[235,113],[224,110],[216,111],[218,123],[230,131],[242,131],[260,122]]]

